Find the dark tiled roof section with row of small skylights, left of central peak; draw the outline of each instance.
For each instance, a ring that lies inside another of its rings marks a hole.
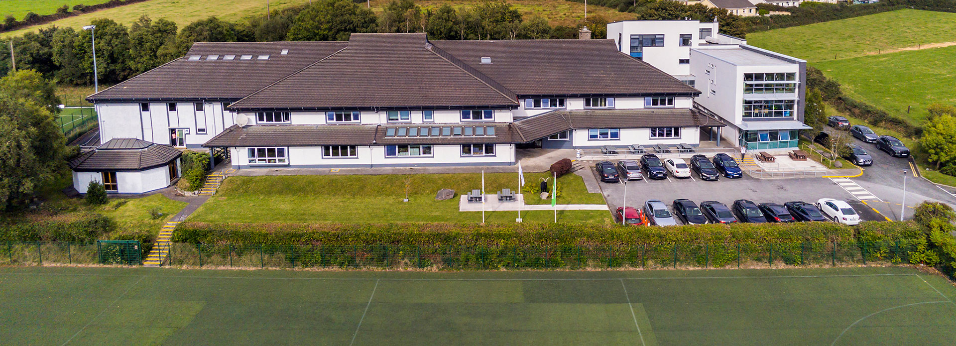
[[[108,100],[235,100],[289,76],[315,61],[336,53],[347,42],[197,42],[185,57],[134,76],[87,99]],[[282,50],[289,50],[283,55]],[[250,60],[242,60],[250,54]],[[269,59],[257,57],[269,54]],[[199,60],[189,56],[199,55]],[[219,55],[216,60],[206,60]],[[223,60],[235,55],[233,60]]]

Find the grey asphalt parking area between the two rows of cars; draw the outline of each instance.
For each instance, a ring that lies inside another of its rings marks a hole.
[[[594,163],[590,162],[594,172]],[[815,203],[821,198],[833,198],[846,201],[857,210],[860,219],[864,221],[885,220],[880,214],[864,205],[851,190],[840,187],[833,180],[826,178],[798,178],[798,179],[754,179],[744,175],[739,179],[722,177],[716,182],[706,182],[698,179],[697,173],[692,178],[677,179],[668,176],[664,180],[651,180],[646,177],[640,181],[629,183],[599,183],[604,199],[612,209],[624,205],[624,190],[627,190],[627,206],[641,207],[644,201],[661,200],[668,206],[677,199],[688,199],[700,204],[704,201],[717,201],[731,205],[733,201],[746,199],[754,203],[784,204],[791,201]],[[596,176],[597,179],[597,176]],[[599,179],[598,179],[599,182]]]

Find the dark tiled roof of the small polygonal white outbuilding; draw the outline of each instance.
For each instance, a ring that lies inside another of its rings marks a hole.
[[[85,152],[69,162],[75,171],[139,171],[163,166],[183,152],[149,141],[114,139]]]

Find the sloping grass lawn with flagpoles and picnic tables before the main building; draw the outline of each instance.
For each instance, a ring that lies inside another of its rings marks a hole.
[[[548,173],[526,173],[529,184],[537,184]],[[409,184],[409,202],[405,184]],[[485,191],[514,190],[517,174],[485,175]],[[558,179],[561,196],[557,203],[604,204],[600,194],[587,193],[581,177],[569,174]],[[436,201],[435,193],[451,188],[455,198]],[[231,177],[215,196],[193,214],[189,221],[207,223],[392,223],[392,222],[481,222],[481,212],[458,211],[459,196],[481,188],[481,174],[409,174],[380,176],[272,176]],[[526,195],[530,203],[536,196]],[[606,210],[558,211],[559,222],[610,222]],[[487,222],[511,223],[517,211],[486,212]],[[551,222],[551,210],[522,211],[526,222]]]

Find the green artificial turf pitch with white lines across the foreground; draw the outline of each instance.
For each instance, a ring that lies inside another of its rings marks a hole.
[[[0,268],[2,345],[952,345],[906,268]]]

